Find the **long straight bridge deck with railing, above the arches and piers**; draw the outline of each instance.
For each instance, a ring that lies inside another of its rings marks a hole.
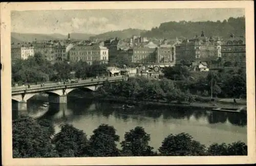
[[[28,88],[28,86],[22,86],[22,87],[12,87],[12,94],[17,94],[21,92],[34,92],[34,91],[46,91],[46,90],[56,90],[56,89],[62,89],[62,88],[72,88],[72,87],[79,87],[79,86],[90,86],[90,85],[97,85],[102,84],[104,81],[110,81],[110,82],[116,82],[123,80],[122,76],[116,76],[116,77],[109,77],[109,78],[97,78],[97,79],[90,79],[90,80],[82,80],[78,81],[77,83],[51,83],[51,84],[45,84],[44,86],[41,85],[32,85]]]

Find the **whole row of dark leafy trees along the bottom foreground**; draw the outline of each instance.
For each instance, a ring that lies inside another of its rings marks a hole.
[[[187,133],[169,134],[158,151],[149,145],[151,136],[142,127],[120,136],[113,126],[101,124],[88,138],[82,130],[69,124],[61,125],[55,133],[48,120],[36,121],[20,116],[12,122],[14,158],[28,157],[114,157],[114,156],[218,156],[247,155],[247,145],[241,141],[232,144],[212,144],[205,147]]]

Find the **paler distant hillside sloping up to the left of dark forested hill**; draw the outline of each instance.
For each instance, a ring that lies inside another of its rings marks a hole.
[[[102,33],[99,35],[92,36],[92,37],[90,37],[90,39],[95,39],[95,38],[110,39],[110,38],[115,38],[115,37],[119,37],[120,39],[126,39],[133,35],[140,35],[142,32],[145,32],[145,30],[130,28],[130,29],[122,30],[122,31],[111,31],[111,32]]]

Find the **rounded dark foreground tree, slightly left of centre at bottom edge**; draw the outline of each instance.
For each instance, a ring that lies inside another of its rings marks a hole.
[[[100,125],[93,131],[90,138],[89,154],[92,157],[119,156],[119,150],[115,141],[119,141],[116,130],[113,126]]]

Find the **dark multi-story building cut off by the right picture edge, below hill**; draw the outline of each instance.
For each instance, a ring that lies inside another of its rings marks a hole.
[[[232,65],[238,64],[246,65],[246,47],[244,37],[234,37],[233,34],[230,38],[223,42],[221,45],[222,61],[231,62]]]

